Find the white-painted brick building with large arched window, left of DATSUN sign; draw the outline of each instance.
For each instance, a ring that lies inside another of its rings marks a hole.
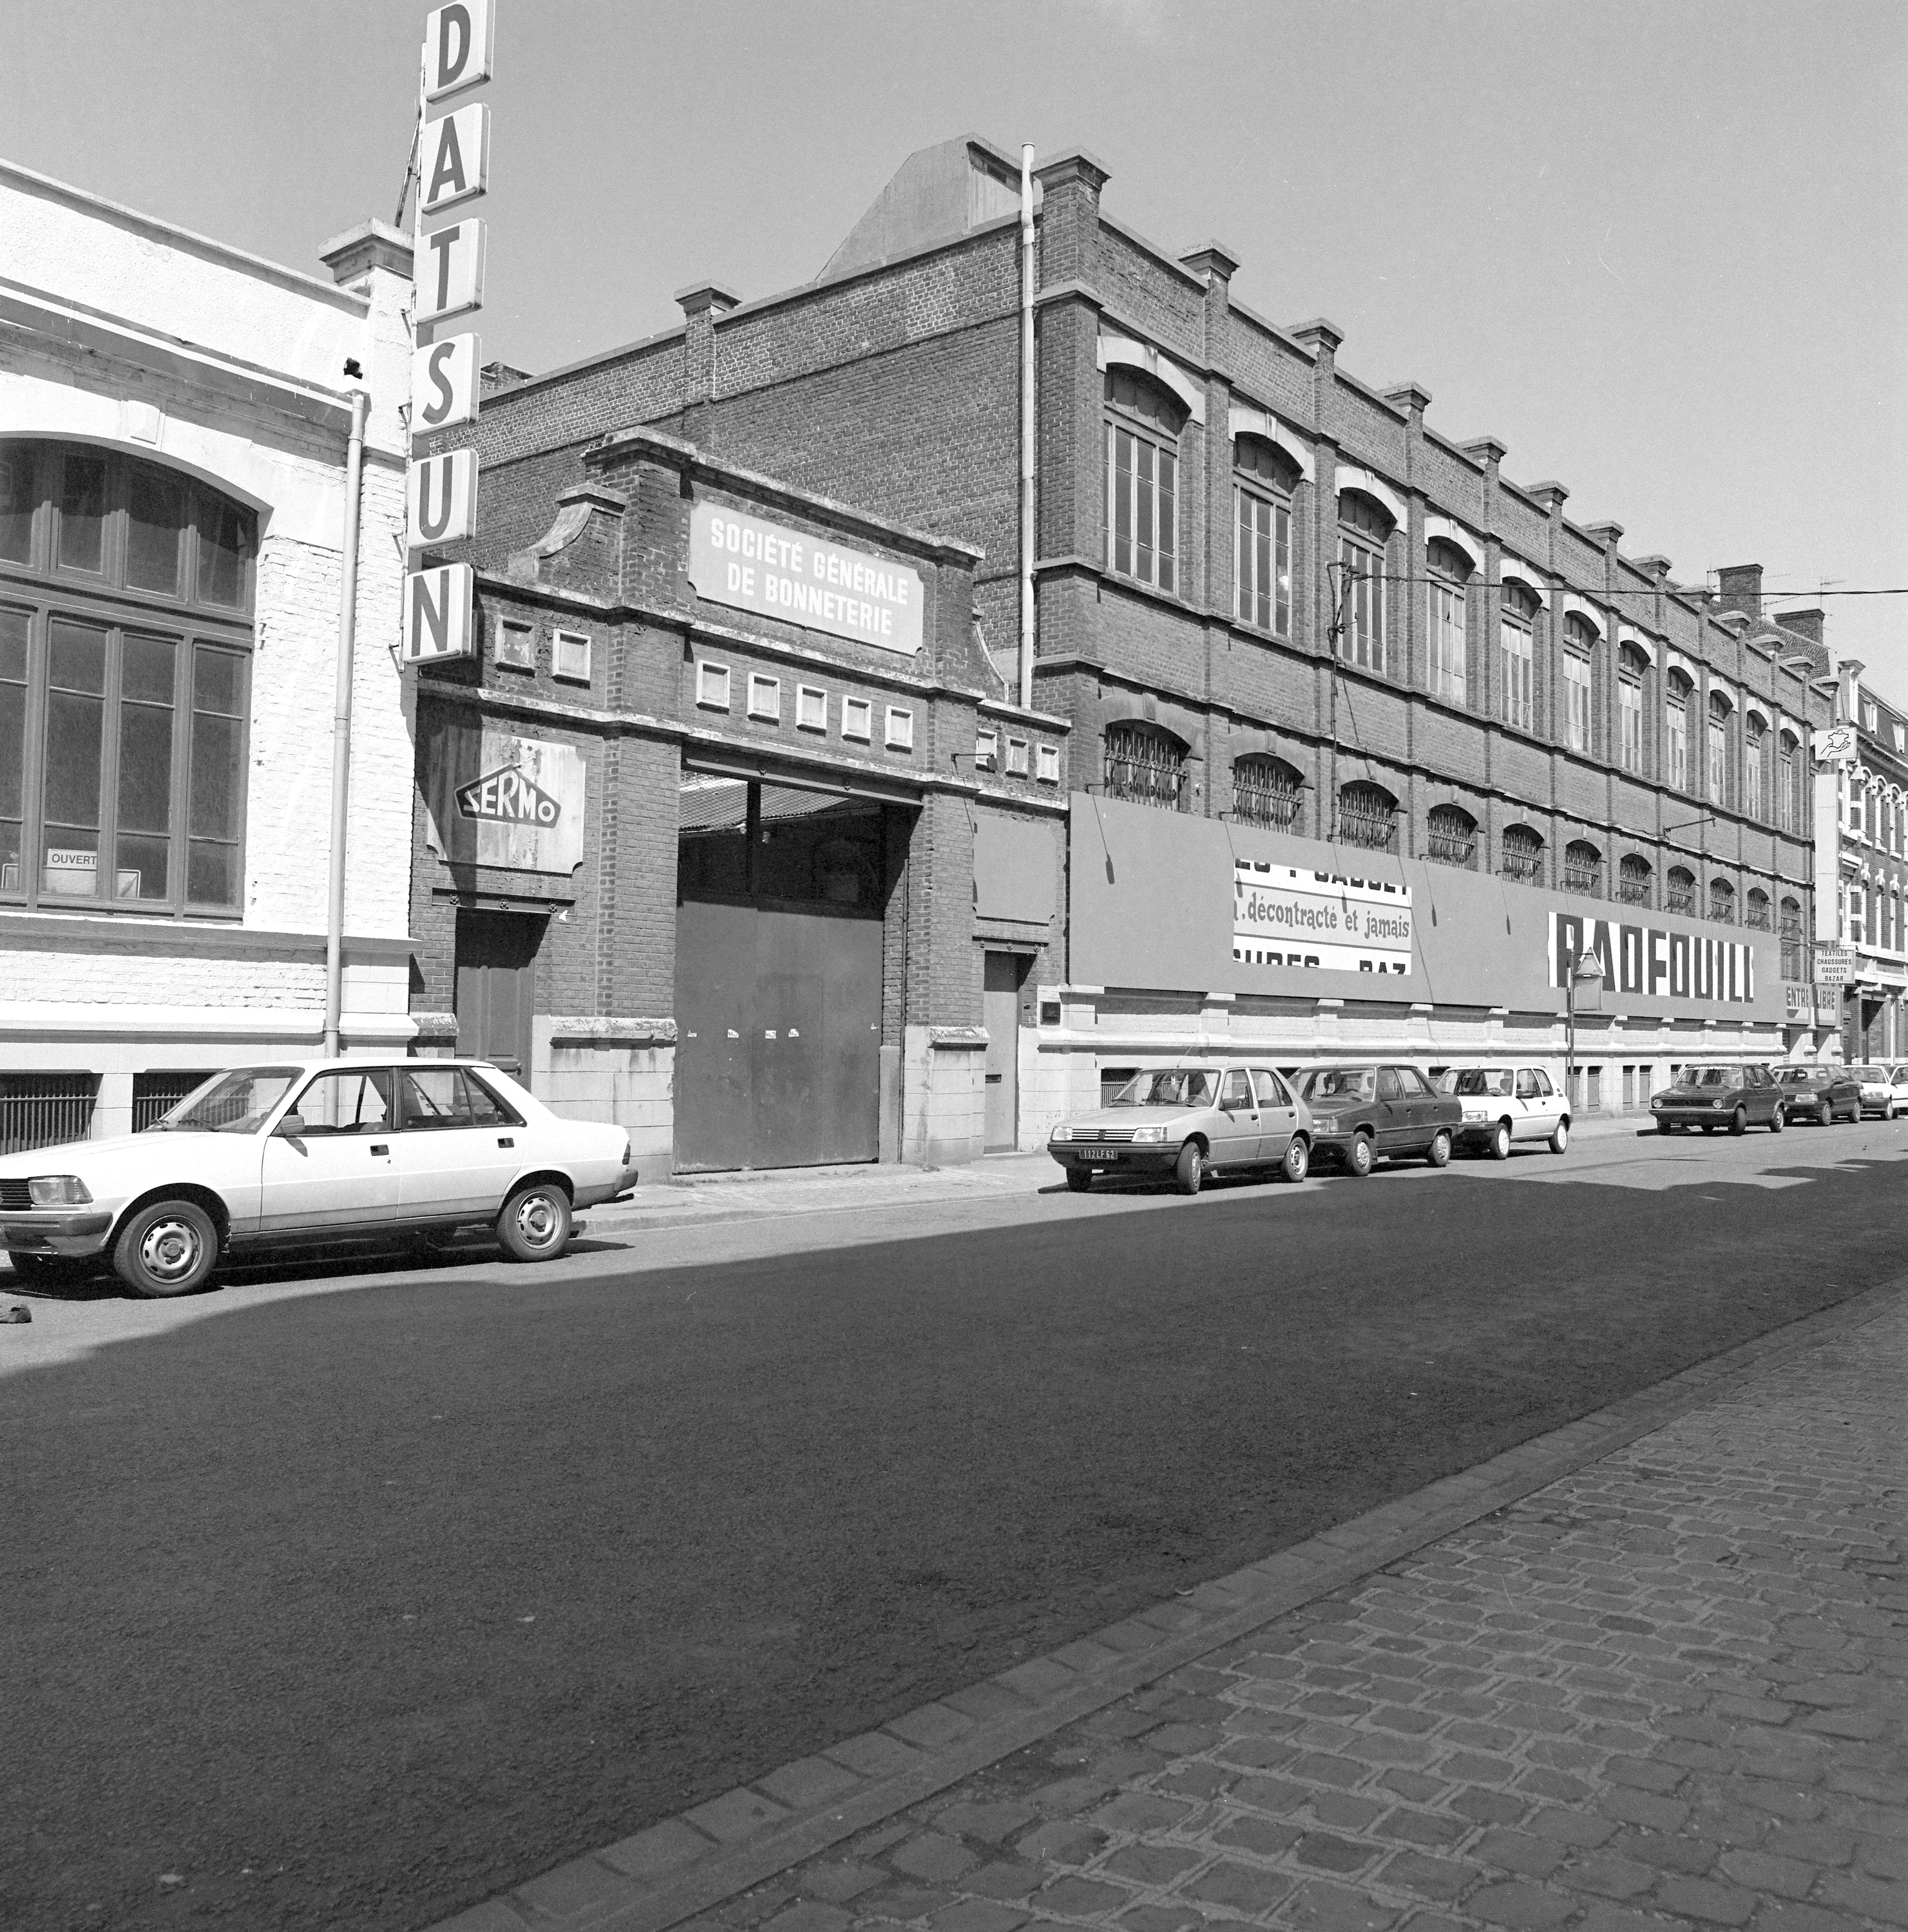
[[[408,1041],[408,251],[317,280],[0,166],[0,1148],[315,1053],[350,390],[344,1043]],[[363,383],[346,375],[346,361]]]

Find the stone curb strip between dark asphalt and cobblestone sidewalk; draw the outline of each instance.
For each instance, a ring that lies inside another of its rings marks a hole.
[[[1185,1598],[829,1745],[429,1932],[667,1932],[936,1791],[1780,1368],[1908,1294],[1865,1289]]]

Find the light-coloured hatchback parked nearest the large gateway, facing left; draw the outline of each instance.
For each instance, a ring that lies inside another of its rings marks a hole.
[[[1048,1153],[1084,1194],[1094,1175],[1171,1175],[1197,1194],[1208,1175],[1276,1167],[1303,1180],[1313,1122],[1270,1066],[1187,1065],[1135,1074],[1094,1113],[1061,1121]]]

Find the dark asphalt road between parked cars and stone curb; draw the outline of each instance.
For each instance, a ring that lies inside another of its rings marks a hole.
[[[1891,1279],[1904,1155],[43,1302],[89,1347],[0,1352],[0,1922],[429,1924]]]

